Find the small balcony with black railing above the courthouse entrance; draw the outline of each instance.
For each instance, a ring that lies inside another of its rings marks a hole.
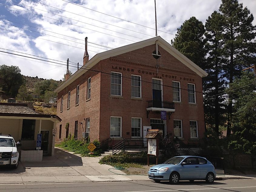
[[[147,111],[147,118],[150,111],[166,111],[169,112],[170,119],[170,115],[175,111],[174,102],[150,100],[148,101]]]

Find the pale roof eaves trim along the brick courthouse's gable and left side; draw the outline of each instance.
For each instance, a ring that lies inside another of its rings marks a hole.
[[[99,61],[103,59],[107,59],[110,57],[114,57],[116,55],[121,55],[139,48],[143,48],[149,45],[155,44],[157,41],[158,45],[160,45],[163,49],[165,49],[167,52],[169,52],[172,56],[174,56],[176,59],[181,61],[184,65],[186,65],[188,68],[190,68],[192,71],[194,71],[196,74],[198,74],[200,77],[206,77],[208,73],[206,73],[203,69],[201,69],[198,65],[196,65],[194,62],[189,60],[185,55],[183,55],[181,52],[179,52],[177,49],[175,49],[173,46],[171,46],[167,41],[165,41],[160,36],[150,38],[144,41],[139,41],[137,43],[125,45],[119,48],[115,48],[112,50],[104,51],[101,53],[96,54],[93,58],[91,58],[84,66],[82,66],[78,71],[76,71],[70,78],[68,78],[66,81],[64,81],[58,88],[55,89],[55,92],[60,92],[62,89],[67,87],[69,84],[71,84],[73,81],[75,81],[78,77],[80,77],[82,74],[84,74],[87,69],[92,68],[94,65],[96,65]]]

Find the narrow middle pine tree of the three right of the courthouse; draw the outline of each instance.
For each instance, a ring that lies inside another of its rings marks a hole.
[[[219,124],[223,120],[223,102],[222,97],[226,81],[223,79],[223,68],[226,61],[226,52],[223,41],[223,16],[214,11],[208,17],[205,23],[205,37],[208,43],[206,50],[208,52],[205,71],[208,76],[204,78],[204,112],[205,121],[208,126],[214,128],[219,133]],[[213,113],[214,111],[214,113]]]

